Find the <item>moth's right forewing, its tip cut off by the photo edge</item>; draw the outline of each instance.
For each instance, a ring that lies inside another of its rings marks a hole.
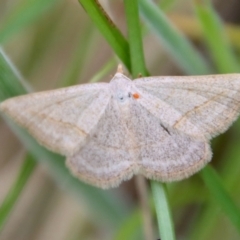
[[[240,74],[148,77],[135,82],[142,104],[166,126],[208,139],[224,132],[240,111]]]

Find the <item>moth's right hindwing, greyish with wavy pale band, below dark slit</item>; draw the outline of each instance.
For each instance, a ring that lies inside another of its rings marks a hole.
[[[165,127],[161,119],[145,108],[141,101],[132,104],[128,124],[137,159],[138,173],[149,179],[171,182],[199,171],[211,159],[206,139],[195,138]]]

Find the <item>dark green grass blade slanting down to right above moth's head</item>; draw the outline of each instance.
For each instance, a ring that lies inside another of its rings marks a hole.
[[[114,50],[115,54],[125,64],[126,68],[131,71],[129,59],[129,46],[118,28],[114,25],[110,17],[104,11],[102,6],[95,0],[78,0],[83,6],[94,24],[105,37],[106,41]]]

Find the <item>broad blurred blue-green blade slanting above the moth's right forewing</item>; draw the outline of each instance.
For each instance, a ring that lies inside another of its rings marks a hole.
[[[208,74],[211,70],[191,43],[168,21],[150,0],[139,0],[141,15],[160,38],[176,63],[188,74]]]

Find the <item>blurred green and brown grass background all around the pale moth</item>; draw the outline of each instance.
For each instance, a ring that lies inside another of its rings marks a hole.
[[[240,28],[223,22],[210,1],[158,2],[0,2],[0,101],[108,81],[118,62],[133,78],[240,71]],[[28,152],[2,121],[0,239],[148,239],[134,181],[108,191],[84,184],[63,157],[5,121]],[[199,174],[149,184],[154,240],[239,239],[239,141],[237,121],[213,141],[213,160]]]

